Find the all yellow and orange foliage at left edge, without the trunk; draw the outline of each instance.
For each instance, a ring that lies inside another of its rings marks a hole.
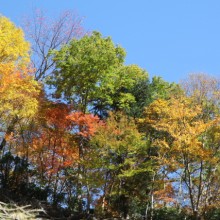
[[[19,121],[37,112],[40,86],[31,76],[29,60],[29,43],[23,31],[0,16],[0,127],[6,136]],[[3,137],[0,149],[5,144]]]

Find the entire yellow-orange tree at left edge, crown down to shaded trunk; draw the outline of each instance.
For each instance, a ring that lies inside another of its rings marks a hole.
[[[16,147],[19,143],[28,153],[21,130],[38,112],[41,89],[34,81],[33,70],[28,67],[29,60],[29,43],[23,31],[0,16],[0,175],[3,188],[13,187],[12,183],[17,187],[18,175],[13,172],[17,167],[17,163],[13,164]],[[27,157],[19,160],[26,162]]]

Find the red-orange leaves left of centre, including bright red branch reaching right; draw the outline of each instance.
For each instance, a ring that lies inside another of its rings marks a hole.
[[[99,118],[92,114],[71,112],[66,104],[53,103],[44,113],[45,125],[33,140],[32,162],[51,176],[79,162],[78,138],[94,135]]]

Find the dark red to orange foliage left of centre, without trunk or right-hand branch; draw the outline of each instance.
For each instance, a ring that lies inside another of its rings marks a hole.
[[[65,104],[46,110],[47,126],[33,140],[31,161],[49,176],[73,166],[78,160],[78,148],[70,134],[70,121],[66,119],[69,112]]]

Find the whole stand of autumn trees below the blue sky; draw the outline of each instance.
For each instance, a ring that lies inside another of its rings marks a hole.
[[[0,219],[220,219],[220,78],[150,77],[73,16],[0,16]]]

